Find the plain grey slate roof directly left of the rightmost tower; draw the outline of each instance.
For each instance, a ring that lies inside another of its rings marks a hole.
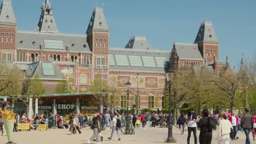
[[[176,50],[179,59],[197,59],[203,61],[197,44],[174,43],[173,50]]]

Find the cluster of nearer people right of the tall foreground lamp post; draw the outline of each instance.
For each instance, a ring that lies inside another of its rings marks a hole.
[[[218,131],[218,143],[228,144],[231,140],[237,140],[237,131],[243,131],[246,135],[246,144],[250,144],[249,133],[253,133],[255,141],[256,134],[256,114],[251,115],[249,109],[245,109],[243,115],[236,115],[236,111],[231,113],[222,113],[218,115],[210,115],[208,110],[203,110],[201,116],[197,116],[194,109],[184,116],[182,114],[177,122],[181,129],[181,134],[184,134],[184,129],[188,130],[187,143],[190,143],[191,133],[194,135],[194,143],[197,144],[196,131],[200,130],[199,143],[210,144],[212,142],[212,131]]]

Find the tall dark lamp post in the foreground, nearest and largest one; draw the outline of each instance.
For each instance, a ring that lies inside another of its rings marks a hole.
[[[172,136],[172,99],[171,99],[171,87],[172,87],[172,80],[173,80],[174,71],[168,70],[166,71],[166,80],[169,84],[169,122],[168,122],[168,137],[166,142],[173,142]]]

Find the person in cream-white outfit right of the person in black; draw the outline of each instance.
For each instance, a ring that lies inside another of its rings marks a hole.
[[[218,144],[229,144],[231,129],[233,129],[230,121],[226,120],[224,113],[219,113],[219,130],[218,130]]]

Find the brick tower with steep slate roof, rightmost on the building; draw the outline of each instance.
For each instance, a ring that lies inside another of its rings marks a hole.
[[[212,22],[203,21],[196,35],[195,44],[198,44],[203,59],[207,58],[208,63],[219,59],[219,40],[212,27]]]

